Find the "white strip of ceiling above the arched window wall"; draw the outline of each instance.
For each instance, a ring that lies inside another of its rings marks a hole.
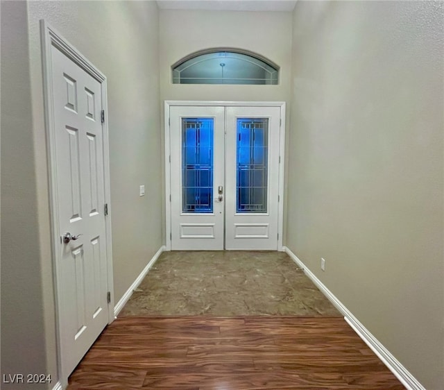
[[[157,0],[161,10],[293,11],[297,0]]]

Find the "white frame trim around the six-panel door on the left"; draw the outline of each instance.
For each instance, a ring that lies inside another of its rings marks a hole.
[[[108,139],[108,117],[106,99],[106,77],[99,69],[94,67],[72,44],[65,40],[58,31],[51,27],[44,19],[40,20],[40,35],[42,42],[42,64],[44,80],[44,115],[46,128],[46,147],[48,155],[48,176],[49,176],[49,196],[51,208],[51,246],[53,260],[53,280],[56,298],[56,332],[58,345],[58,380],[65,388],[69,373],[62,371],[62,356],[67,353],[61,342],[60,313],[61,313],[61,277],[60,277],[60,228],[58,219],[58,191],[57,191],[57,164],[56,164],[56,128],[54,124],[51,66],[51,46],[56,47],[65,56],[72,60],[78,67],[101,83],[102,108],[105,110],[105,121],[103,123],[103,167],[105,181],[105,203],[110,205],[110,160],[109,160],[109,139]],[[110,303],[108,303],[108,323],[114,321],[114,289],[112,277],[112,245],[111,245],[111,219],[105,219],[106,229],[106,254],[108,260],[107,282],[110,291]]]

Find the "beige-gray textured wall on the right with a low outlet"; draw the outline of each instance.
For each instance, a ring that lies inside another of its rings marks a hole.
[[[430,390],[444,386],[443,47],[443,3],[293,12],[287,246]]]

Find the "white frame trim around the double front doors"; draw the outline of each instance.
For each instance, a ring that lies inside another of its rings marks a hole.
[[[285,152],[285,102],[284,101],[175,101],[164,103],[165,135],[165,246],[171,251],[171,164],[170,164],[170,119],[169,108],[175,105],[222,106],[222,107],[280,107],[279,139],[279,216],[278,216],[278,251],[283,251],[282,236],[284,230],[284,152]]]

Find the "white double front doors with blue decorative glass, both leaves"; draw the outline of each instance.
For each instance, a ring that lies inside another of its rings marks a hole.
[[[280,107],[170,106],[172,250],[277,250]]]

